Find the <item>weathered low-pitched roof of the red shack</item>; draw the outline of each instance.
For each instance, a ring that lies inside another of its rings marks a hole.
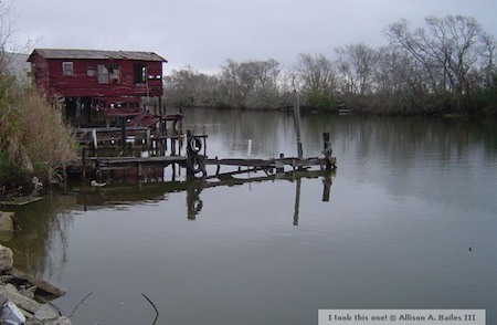
[[[45,59],[137,60],[168,62],[155,52],[75,49],[34,49],[28,61],[31,61],[35,54]]]

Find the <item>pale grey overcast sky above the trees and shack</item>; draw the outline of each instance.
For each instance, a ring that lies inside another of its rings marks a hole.
[[[151,51],[165,74],[186,65],[204,72],[236,62],[299,53],[328,57],[334,49],[387,43],[383,30],[401,18],[475,18],[497,39],[497,0],[4,0],[17,13],[14,38],[35,48]]]

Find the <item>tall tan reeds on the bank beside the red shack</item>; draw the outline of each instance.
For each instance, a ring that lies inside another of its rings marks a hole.
[[[0,75],[0,188],[25,184],[76,157],[63,107],[52,105],[31,85]]]

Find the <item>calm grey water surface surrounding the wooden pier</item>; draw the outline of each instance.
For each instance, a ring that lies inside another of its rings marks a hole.
[[[186,111],[194,126],[211,157],[245,157],[248,139],[253,157],[296,155],[284,113]],[[157,324],[317,324],[319,308],[485,308],[494,324],[496,126],[308,115],[305,156],[331,132],[328,178],[53,193],[14,209],[23,230],[2,243],[67,290],[66,314],[91,294],[75,324],[151,324],[142,294]]]

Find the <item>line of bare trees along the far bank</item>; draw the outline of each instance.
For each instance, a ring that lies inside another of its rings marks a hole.
[[[165,77],[168,105],[396,114],[497,114],[497,43],[470,17],[429,17],[413,29],[401,19],[384,30],[388,45],[336,48],[275,60],[226,60],[216,74],[192,66]]]

